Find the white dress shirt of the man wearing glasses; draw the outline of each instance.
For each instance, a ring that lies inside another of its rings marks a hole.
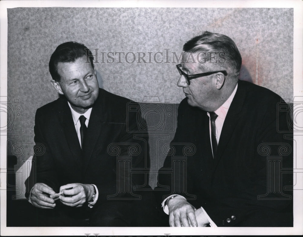
[[[228,109],[229,109],[229,107],[231,105],[231,102],[232,102],[232,100],[235,97],[237,88],[238,88],[238,84],[236,85],[234,91],[231,93],[231,95],[228,97],[228,99],[223,103],[223,105],[221,105],[220,108],[218,108],[215,111],[215,113],[218,115],[218,117],[216,118],[216,121],[215,121],[215,124],[216,124],[216,140],[217,140],[218,144],[219,144],[220,135],[221,135],[221,132],[222,132],[222,127],[223,127],[223,124],[224,124],[224,120],[226,118],[226,115],[227,115]],[[209,112],[207,112],[207,115],[210,118]],[[211,122],[210,122],[210,119],[209,119],[209,136],[210,136],[210,142],[211,142]],[[211,147],[212,147],[212,144],[211,144]],[[170,199],[173,196],[176,196],[176,195],[170,195],[169,197],[167,197],[166,199],[164,199],[164,201],[162,202],[163,211],[166,214],[169,214],[169,211],[168,211],[168,206],[165,205],[165,202],[166,202],[166,200]],[[184,198],[185,199],[185,197],[183,197],[181,195],[178,195],[178,196],[180,196],[180,198]],[[208,221],[210,223],[210,226],[216,227],[217,225],[215,224],[215,222],[213,222],[211,220],[211,218],[208,216],[208,214],[206,213],[206,211],[204,210],[204,208],[201,207],[201,209],[203,210],[205,216],[207,217],[207,219],[208,219]]]

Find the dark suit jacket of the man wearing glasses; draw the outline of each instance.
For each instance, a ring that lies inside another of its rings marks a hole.
[[[293,140],[285,139],[277,129],[277,123],[280,129],[288,128],[287,116],[277,112],[279,102],[281,97],[274,92],[239,81],[213,159],[207,113],[189,106],[187,98],[182,100],[171,142],[175,152],[166,157],[161,169],[172,168],[172,158],[184,156],[182,144],[193,144],[195,151],[188,152],[183,178],[175,175],[174,179],[160,169],[159,185],[170,187],[165,195],[180,194],[197,209],[203,206],[217,226],[292,226],[292,192],[284,190],[292,185],[292,174],[270,173],[293,167]],[[281,151],[282,144],[287,151]],[[178,182],[185,188],[173,187]]]

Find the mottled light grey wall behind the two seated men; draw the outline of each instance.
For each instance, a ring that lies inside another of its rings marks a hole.
[[[8,9],[8,98],[24,104],[24,132],[8,135],[8,154],[13,145],[27,143],[23,157],[32,155],[35,111],[58,97],[50,82],[48,61],[59,44],[77,41],[98,48],[99,84],[112,93],[140,102],[144,96],[158,96],[160,102],[179,103],[184,95],[176,86],[173,52],[180,55],[183,44],[204,30],[235,41],[243,59],[241,79],[267,87],[282,98],[293,97],[291,8]],[[133,52],[135,62],[128,63],[134,59],[129,53],[127,60],[121,55],[121,63],[118,54],[113,63],[107,63],[107,59],[113,61],[106,57],[108,52]],[[139,63],[138,52],[145,53],[145,61],[151,63]],[[156,52],[160,52],[156,55],[160,63],[154,60]],[[17,122],[15,126],[23,126],[22,119]],[[18,157],[15,167],[21,165]]]

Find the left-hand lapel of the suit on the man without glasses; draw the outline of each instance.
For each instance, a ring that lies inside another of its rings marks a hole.
[[[78,167],[82,166],[82,150],[78,140],[77,132],[75,129],[74,121],[72,118],[72,112],[68,106],[68,103],[65,99],[62,99],[62,107],[59,113],[66,142],[72,153],[74,160],[71,161],[71,164],[76,163]]]

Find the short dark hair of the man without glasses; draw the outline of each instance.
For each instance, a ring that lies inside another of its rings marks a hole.
[[[92,56],[92,52],[85,45],[73,41],[59,45],[48,63],[49,72],[53,80],[56,82],[60,81],[57,68],[59,62],[75,62],[83,56],[88,57],[88,61],[91,63],[92,68],[94,68],[94,56]]]

